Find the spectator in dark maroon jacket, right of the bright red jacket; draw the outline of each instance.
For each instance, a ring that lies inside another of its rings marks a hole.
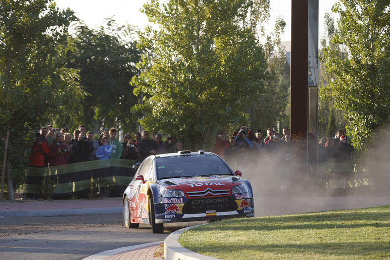
[[[54,141],[49,144],[49,166],[67,164],[69,159],[68,147],[62,143],[64,136],[60,131],[54,134]]]

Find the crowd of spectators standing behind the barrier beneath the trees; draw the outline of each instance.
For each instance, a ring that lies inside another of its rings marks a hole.
[[[73,136],[68,130],[53,128],[52,125],[42,127],[30,147],[29,166],[47,167],[110,158],[142,160],[149,155],[183,150],[181,136],[168,136],[164,142],[161,134],[152,133],[149,138],[149,132],[144,130],[142,133],[125,134],[121,142],[115,128],[102,127],[96,141],[93,132],[86,132],[85,125],[74,130]],[[268,128],[263,139],[261,129],[253,133],[251,127],[243,126],[233,135],[228,135],[226,130],[219,131],[212,152],[236,166],[260,156],[272,161],[276,155],[288,163],[290,145],[290,129],[287,127],[283,128],[282,136],[273,128]],[[321,138],[318,143],[318,162],[347,162],[352,157],[353,147],[348,144],[345,129],[340,129],[332,138]],[[279,159],[275,159],[277,161]]]

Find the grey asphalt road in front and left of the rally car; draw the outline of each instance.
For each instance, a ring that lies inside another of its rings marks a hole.
[[[175,231],[182,228],[172,228]],[[127,229],[122,214],[0,219],[0,259],[76,260],[102,251],[163,241],[169,231]]]

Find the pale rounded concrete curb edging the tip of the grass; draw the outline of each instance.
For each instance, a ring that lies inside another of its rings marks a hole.
[[[203,224],[206,225],[206,224]],[[175,232],[169,234],[169,236],[164,240],[164,259],[180,259],[180,260],[218,260],[217,258],[208,257],[191,251],[187,248],[184,248],[179,243],[179,237],[183,234],[184,231],[197,227],[191,226],[176,230]]]

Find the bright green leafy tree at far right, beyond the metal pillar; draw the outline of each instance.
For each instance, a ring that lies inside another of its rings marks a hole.
[[[336,107],[344,111],[353,145],[361,150],[390,114],[389,1],[340,2],[333,8],[340,14],[333,42],[344,45],[348,56],[326,49],[326,71],[337,78],[326,88]]]

